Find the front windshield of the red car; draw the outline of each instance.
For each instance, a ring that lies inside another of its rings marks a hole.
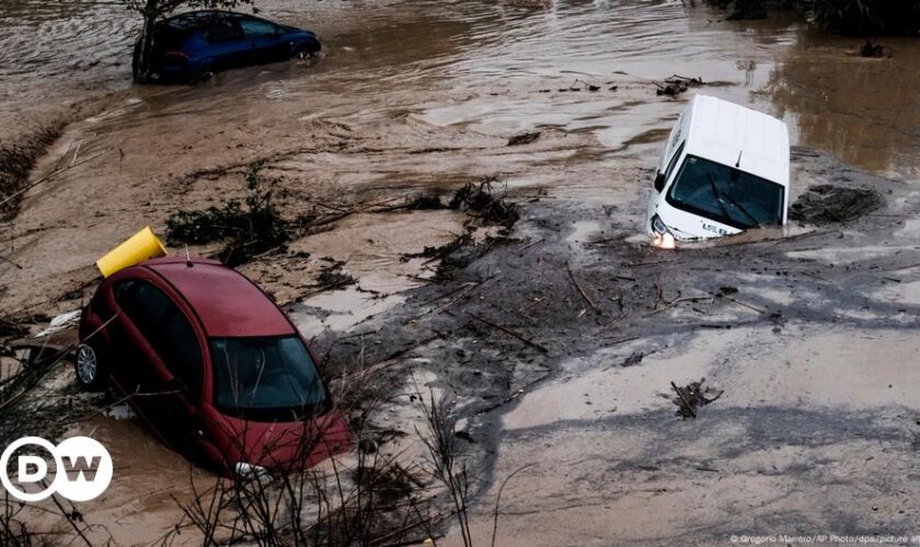
[[[297,421],[326,409],[329,395],[297,336],[212,338],[215,406],[253,421]]]

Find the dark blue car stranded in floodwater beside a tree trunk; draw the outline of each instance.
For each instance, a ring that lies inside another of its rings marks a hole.
[[[140,40],[134,75],[139,81],[197,81],[214,72],[317,54],[310,31],[244,13],[193,11],[164,19],[153,32],[150,69],[140,74]]]

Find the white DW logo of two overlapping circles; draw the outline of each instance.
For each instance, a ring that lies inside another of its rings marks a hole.
[[[46,454],[20,454],[11,465],[13,454],[26,446],[33,453]],[[49,459],[55,465],[50,482],[46,480]],[[13,477],[11,469],[15,470]],[[41,437],[23,437],[0,456],[0,482],[21,501],[42,501],[55,492],[71,501],[88,501],[104,492],[111,481],[112,456],[89,437],[72,437],[57,446]]]

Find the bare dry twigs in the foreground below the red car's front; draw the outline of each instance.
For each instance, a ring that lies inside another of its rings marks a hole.
[[[367,393],[365,387],[342,385],[346,392]],[[363,396],[338,393],[335,398],[357,400]],[[471,478],[467,456],[457,442],[457,419],[446,401],[432,393],[426,398],[416,388],[413,398],[421,401],[424,416],[416,434],[426,450],[423,461],[412,463],[401,454],[386,455],[378,450],[373,439],[379,431],[370,417],[384,401],[371,398],[364,400],[361,409],[341,408],[352,417],[352,432],[358,441],[350,464],[333,456],[324,465],[309,467],[304,459],[272,478],[265,474],[217,477],[204,490],[192,482],[194,498],[179,502],[183,516],[164,545],[180,534],[208,546],[437,545],[437,531],[453,521],[463,545],[471,546]],[[306,458],[320,446],[323,432],[314,433],[297,441],[297,454]],[[246,438],[244,432],[237,437]],[[438,498],[450,509],[438,511]]]

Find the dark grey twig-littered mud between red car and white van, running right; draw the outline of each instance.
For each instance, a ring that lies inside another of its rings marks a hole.
[[[858,174],[825,155],[794,153],[793,161],[819,181],[851,177],[877,193],[905,193],[902,184]],[[645,340],[624,348],[611,363],[635,366],[651,352],[664,349],[663,337],[680,344],[701,329],[757,325],[779,336],[786,322],[833,324],[841,310],[864,314],[865,306],[870,315],[882,319],[849,321],[873,328],[894,325],[896,319],[886,317],[895,316],[897,310],[917,307],[866,303],[860,291],[883,282],[878,272],[886,268],[920,263],[920,252],[854,260],[846,268],[789,256],[802,248],[889,234],[897,225],[896,217],[867,220],[860,226],[861,235],[828,230],[807,240],[793,236],[734,244],[725,240],[725,245],[663,252],[626,241],[641,214],[639,203],[634,209],[608,218],[602,207],[528,203],[526,220],[515,225],[515,240],[491,246],[464,242],[432,252],[445,265],[452,265],[445,266],[452,268],[449,276],[413,291],[404,305],[347,336],[325,333],[314,347],[326,357],[324,366],[333,376],[349,371],[355,362],[365,369],[379,365],[372,382],[376,393],[401,393],[410,374],[422,366],[430,371],[446,397],[463,401],[458,417],[470,420],[464,431],[476,440],[467,443],[467,449],[482,458],[483,484],[487,485],[490,462],[502,442],[497,432],[504,411],[514,407],[520,393],[532,391],[544,379],[564,377],[565,363],[573,357]],[[596,241],[568,241],[575,223],[600,219]],[[573,275],[596,310],[586,303]],[[743,281],[751,275],[759,278],[754,288],[754,282]],[[798,294],[814,296],[780,305],[760,295],[764,283],[783,291],[794,287]],[[669,401],[677,396],[669,385],[663,387]],[[694,412],[718,395],[702,381],[678,387]],[[666,416],[664,409],[662,416]]]

